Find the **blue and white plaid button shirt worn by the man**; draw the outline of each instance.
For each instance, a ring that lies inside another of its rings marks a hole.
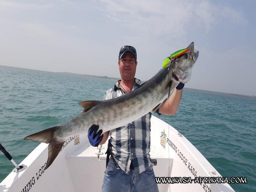
[[[139,87],[140,80],[135,78],[132,91]],[[109,89],[104,95],[104,100],[124,95],[119,87],[119,81],[114,88]],[[127,124],[110,131],[110,142],[113,145],[112,155],[118,166],[127,174],[130,172],[131,161],[134,174],[138,175],[151,165],[150,151],[150,119],[151,112]]]

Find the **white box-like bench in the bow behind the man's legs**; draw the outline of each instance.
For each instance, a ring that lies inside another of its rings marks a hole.
[[[150,157],[154,164],[155,176],[168,176],[168,171],[171,175],[174,153],[166,153],[164,148],[159,147],[159,145],[154,146],[151,144],[150,148]],[[92,146],[86,148],[86,146],[81,145],[76,151],[66,155],[74,191],[82,191],[81,183],[83,184],[85,181],[86,183],[92,183],[91,186],[86,186],[88,191],[101,191],[106,169],[106,150],[107,144],[100,145],[97,148]],[[98,183],[99,185],[95,186],[93,183]]]

